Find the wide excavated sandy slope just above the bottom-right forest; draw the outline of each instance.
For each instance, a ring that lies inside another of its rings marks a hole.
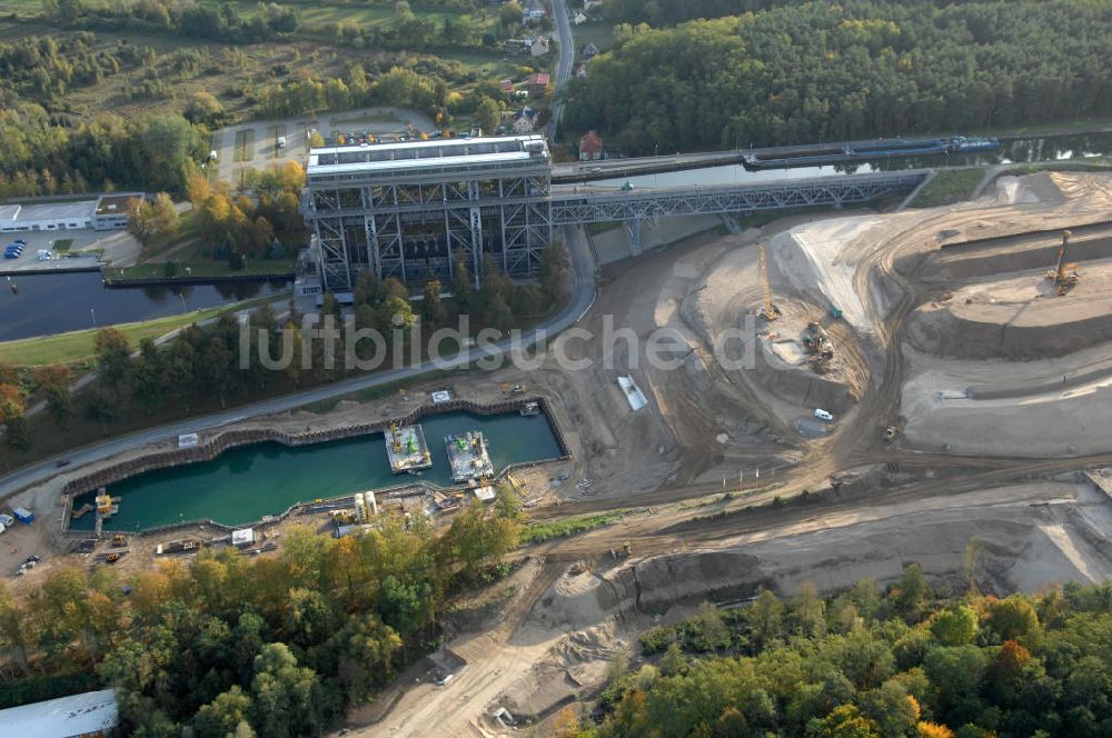
[[[607,600],[624,594],[623,601],[651,614],[677,602],[745,596],[758,586],[791,596],[811,581],[835,591],[862,578],[892,581],[912,561],[933,580],[960,586],[971,540],[982,548],[974,571],[982,587],[1032,591],[1112,576],[1110,533],[1112,500],[1090,483],[1012,485],[824,516],[717,550],[655,557],[614,572]]]

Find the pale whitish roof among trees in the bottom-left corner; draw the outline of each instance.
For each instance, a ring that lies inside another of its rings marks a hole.
[[[119,721],[111,689],[48,699],[0,710],[3,734],[19,738],[58,738],[108,732]]]

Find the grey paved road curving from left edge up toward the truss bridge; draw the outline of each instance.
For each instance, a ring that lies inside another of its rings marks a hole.
[[[567,307],[565,307],[550,320],[547,320],[539,326],[533,336],[523,339],[523,342],[532,345],[542,333],[546,336],[548,340],[552,340],[556,333],[578,322],[578,320],[595,301],[596,265],[594,256],[590,252],[590,247],[587,245],[586,239],[583,238],[582,231],[567,227],[564,232],[572,257],[572,299]],[[317,387],[304,392],[295,392],[292,395],[285,395],[282,397],[261,400],[259,402],[254,402],[251,405],[241,406],[230,410],[199,418],[189,418],[188,420],[182,420],[181,422],[160,426],[158,428],[150,428],[135,433],[129,433],[127,436],[112,438],[103,442],[86,446],[81,449],[52,457],[39,463],[24,467],[0,477],[0,499],[30,485],[41,482],[57,473],[57,461],[61,458],[70,459],[72,465],[77,467],[92,461],[99,461],[137,446],[168,438],[176,438],[182,433],[195,433],[205,429],[237,422],[246,418],[284,412],[310,402],[331,399],[334,397],[367,389],[369,387],[388,385],[390,382],[398,381],[399,379],[417,377],[437,368],[460,367],[469,363],[471,360],[480,359],[490,353],[505,353],[509,350],[509,341],[507,340],[497,343],[495,347],[490,347],[489,350],[475,351],[474,356],[463,355],[455,359],[446,360],[440,363],[440,367],[436,367],[431,362],[426,361],[413,367],[353,377],[351,379],[346,379],[334,385]]]

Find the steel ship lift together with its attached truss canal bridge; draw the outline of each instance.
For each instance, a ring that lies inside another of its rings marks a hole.
[[[356,276],[415,283],[451,278],[463,261],[478,286],[484,255],[516,278],[535,275],[559,226],[622,221],[631,252],[639,223],[669,216],[841,207],[906,195],[925,170],[784,179],[712,187],[554,184],[540,136],[443,139],[314,149],[301,212],[326,291]]]

